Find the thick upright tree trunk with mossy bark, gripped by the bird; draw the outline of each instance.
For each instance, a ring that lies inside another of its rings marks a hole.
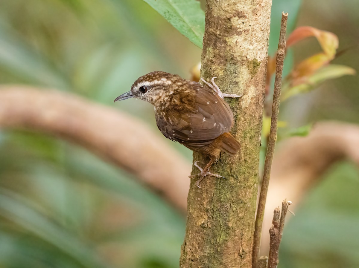
[[[191,181],[180,267],[251,267],[271,0],[207,0],[201,76],[216,76],[234,114],[240,153],[223,153],[198,188]],[[194,153],[201,166],[209,158]],[[193,168],[192,174],[197,174]]]

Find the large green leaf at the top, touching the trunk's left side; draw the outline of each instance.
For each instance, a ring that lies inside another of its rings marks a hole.
[[[181,34],[202,48],[204,11],[196,0],[144,0]]]

